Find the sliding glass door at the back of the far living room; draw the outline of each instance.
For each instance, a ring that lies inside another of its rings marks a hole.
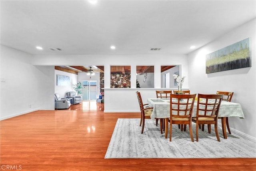
[[[83,81],[84,92],[83,100],[96,100],[97,99],[97,81]]]

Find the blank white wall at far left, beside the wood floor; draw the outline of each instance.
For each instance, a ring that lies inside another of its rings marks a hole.
[[[33,66],[32,55],[1,45],[1,117],[54,109],[54,67]]]

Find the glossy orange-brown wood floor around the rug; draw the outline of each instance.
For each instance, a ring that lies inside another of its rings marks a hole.
[[[103,113],[104,104],[83,103],[1,121],[0,170],[256,170],[255,158],[104,159],[117,119],[139,118],[140,113]]]

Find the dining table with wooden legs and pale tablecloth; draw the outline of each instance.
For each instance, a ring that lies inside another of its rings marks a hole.
[[[163,118],[165,120],[165,138],[168,136],[168,118],[170,118],[170,98],[148,98],[147,103],[150,107],[153,107],[151,119]],[[196,117],[197,110],[197,100],[194,102],[192,117]],[[244,113],[242,107],[239,103],[233,103],[228,101],[222,101],[220,104],[220,109],[218,117],[222,121],[222,132],[223,137],[227,139],[226,132],[226,118],[227,117],[239,117],[244,118]]]

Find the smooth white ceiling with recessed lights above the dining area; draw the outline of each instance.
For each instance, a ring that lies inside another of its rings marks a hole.
[[[0,5],[1,44],[30,54],[188,54],[190,46],[200,48],[256,17],[255,0],[101,0],[94,5],[1,0]]]

